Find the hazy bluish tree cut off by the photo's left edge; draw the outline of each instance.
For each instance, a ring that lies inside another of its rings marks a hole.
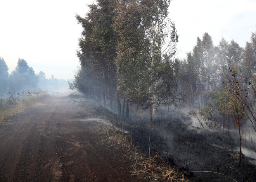
[[[8,67],[2,57],[0,57],[0,95],[7,91],[8,87]]]

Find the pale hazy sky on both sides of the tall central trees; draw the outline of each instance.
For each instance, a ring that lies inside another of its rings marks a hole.
[[[0,56],[13,71],[23,58],[47,78],[73,78],[84,16],[91,0],[0,0]],[[197,37],[208,32],[215,46],[221,37],[240,46],[256,31],[256,0],[173,0],[170,18],[179,34],[178,54],[184,58]]]

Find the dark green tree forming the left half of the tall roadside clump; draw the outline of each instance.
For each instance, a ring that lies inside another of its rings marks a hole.
[[[97,4],[89,5],[89,8],[90,12],[85,18],[79,15],[76,17],[78,23],[83,26],[82,37],[79,41],[80,50],[77,51],[81,69],[87,71],[90,79],[100,85],[95,88],[99,89],[95,92],[101,93],[104,106],[106,106],[106,96],[109,95],[111,99],[116,100],[118,114],[121,115],[119,95],[116,94],[116,65],[114,63],[118,33],[112,27],[116,16],[116,0],[97,0]],[[78,73],[84,73],[84,71],[78,71]],[[78,77],[82,78],[82,76]]]

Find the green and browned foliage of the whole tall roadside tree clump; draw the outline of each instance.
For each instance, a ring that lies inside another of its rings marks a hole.
[[[88,94],[91,87],[103,98],[117,91],[111,94],[117,100],[121,95],[126,102],[154,105],[154,112],[170,100],[178,35],[167,17],[169,5],[170,0],[97,0],[85,18],[77,15],[83,26],[77,52],[81,70],[70,88]]]

